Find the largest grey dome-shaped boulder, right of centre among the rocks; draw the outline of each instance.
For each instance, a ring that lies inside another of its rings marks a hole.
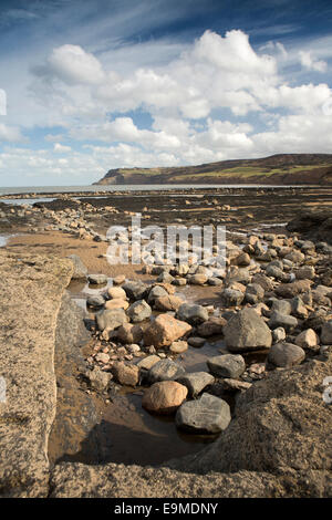
[[[243,309],[232,316],[224,327],[224,336],[230,352],[267,349],[272,344],[270,329],[253,309]]]

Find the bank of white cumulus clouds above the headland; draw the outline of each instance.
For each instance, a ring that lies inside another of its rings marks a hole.
[[[113,70],[108,54],[105,63],[102,54],[82,46],[58,46],[33,69],[30,85],[53,149],[31,152],[24,167],[59,175],[85,171],[95,180],[121,166],[330,152],[332,117],[323,107],[332,105],[332,92],[315,81],[326,63],[313,55],[321,54],[302,50],[300,62],[299,50],[280,42],[256,50],[240,30],[225,35],[206,31],[175,58],[137,69]],[[287,81],[287,66],[298,66],[300,74],[301,64],[311,71],[311,81],[297,83],[293,73]],[[143,112],[151,124],[139,124]],[[1,138],[22,136],[14,125],[0,125]],[[0,157],[2,168],[23,170],[19,148]]]

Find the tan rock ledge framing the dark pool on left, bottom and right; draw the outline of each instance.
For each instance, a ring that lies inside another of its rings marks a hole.
[[[55,416],[54,344],[72,275],[68,260],[0,251],[0,497],[329,497],[328,354],[277,370],[237,399],[218,440],[160,467],[61,462],[48,440]]]

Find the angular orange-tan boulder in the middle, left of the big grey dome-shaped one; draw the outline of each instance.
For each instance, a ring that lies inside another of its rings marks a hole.
[[[176,320],[169,314],[159,314],[144,332],[145,345],[156,349],[168,346],[191,331],[191,326],[184,321]]]

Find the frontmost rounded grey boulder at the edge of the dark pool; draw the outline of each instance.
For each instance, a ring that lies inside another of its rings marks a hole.
[[[214,395],[203,394],[200,399],[184,403],[175,422],[179,429],[195,434],[217,434],[227,428],[231,419],[229,405]]]

